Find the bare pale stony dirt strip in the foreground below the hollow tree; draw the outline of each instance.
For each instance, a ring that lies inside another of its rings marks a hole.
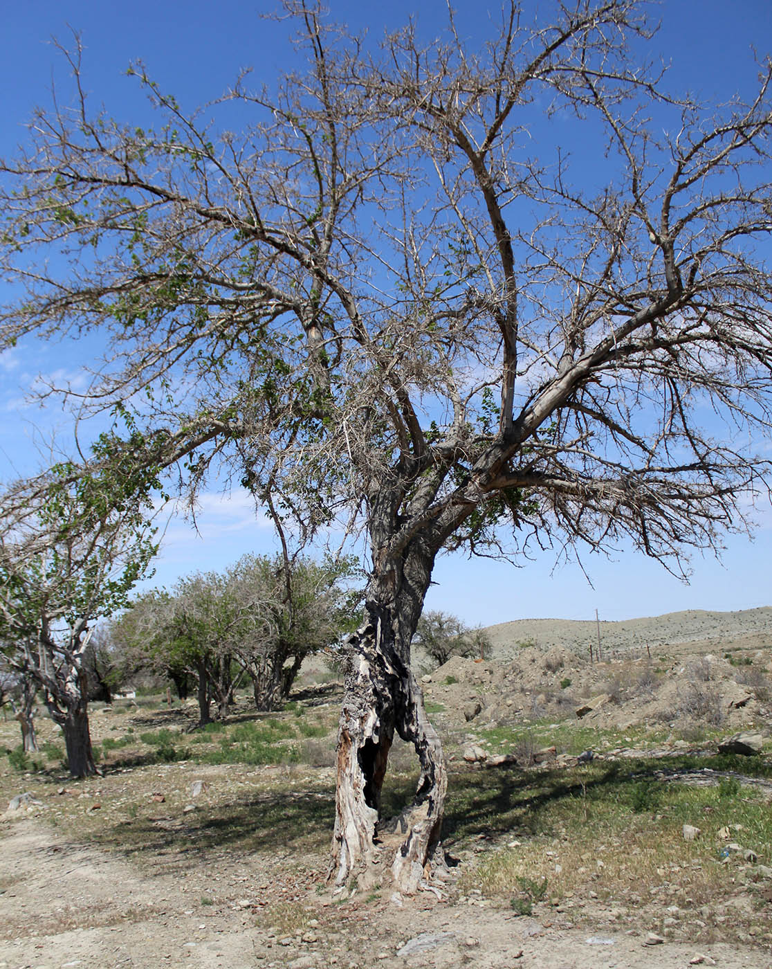
[[[321,857],[209,857],[170,870],[141,870],[71,841],[35,817],[2,829],[0,908],[3,969],[255,966],[345,969],[383,965],[470,969],[770,969],[757,949],[646,945],[639,928],[569,927],[516,918],[479,904],[449,905],[421,893],[334,903],[317,893]],[[217,880],[218,899],[200,892]],[[262,911],[302,912],[296,929],[266,924]],[[703,957],[703,961],[693,960]]]

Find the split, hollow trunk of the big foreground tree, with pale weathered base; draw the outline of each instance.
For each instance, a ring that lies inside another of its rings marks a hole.
[[[444,865],[440,834],[447,775],[440,738],[410,669],[410,642],[434,554],[410,556],[368,583],[366,625],[350,638],[351,660],[337,746],[335,833],[330,875],[352,888],[383,881],[383,861],[400,891],[413,893]],[[416,748],[420,776],[412,804],[390,822],[381,792],[394,732]],[[393,859],[384,857],[396,849]],[[378,866],[378,867],[375,867]]]

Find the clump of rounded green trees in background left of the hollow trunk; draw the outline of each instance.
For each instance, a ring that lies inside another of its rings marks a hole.
[[[196,680],[200,724],[213,699],[226,716],[244,676],[257,708],[272,710],[290,696],[306,656],[355,628],[360,597],[343,584],[354,574],[348,559],[244,555],[223,574],[197,573],[170,592],[139,596],[113,636],[135,663],[144,656],[156,672]]]

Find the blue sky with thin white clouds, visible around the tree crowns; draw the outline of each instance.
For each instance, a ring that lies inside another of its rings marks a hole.
[[[416,5],[360,0],[330,0],[332,15],[352,30],[367,27],[379,38],[415,13]],[[534,6],[526,0],[525,7]],[[462,33],[483,36],[488,17],[498,7],[485,0],[456,4]],[[142,60],[161,86],[174,92],[186,107],[217,97],[241,68],[253,67],[256,81],[270,80],[291,65],[292,47],[286,27],[261,18],[272,3],[223,0],[216,6],[202,0],[181,4],[169,0],[135,0],[132,4],[91,0],[24,0],[7,4],[3,16],[4,58],[0,62],[0,153],[13,154],[24,140],[24,122],[31,109],[46,105],[51,83],[66,84],[62,58],[50,43],[55,36],[70,44],[71,29],[84,45],[86,87],[110,113],[141,123],[145,110],[138,85],[126,77],[130,61]],[[670,86],[694,90],[709,101],[725,101],[738,88],[748,91],[756,78],[751,47],[759,54],[772,46],[772,4],[768,0],[669,0],[653,7],[663,27],[650,52],[671,62]],[[417,27],[430,38],[439,31],[446,4],[424,0],[415,15]],[[26,344],[0,356],[0,478],[24,474],[46,454],[53,428],[67,429],[56,408],[28,408],[24,394],[39,372],[81,379],[82,348]],[[438,562],[436,585],[427,606],[455,612],[471,624],[504,622],[534,616],[622,619],[679,609],[739,610],[772,603],[769,550],[772,515],[757,511],[756,542],[729,537],[724,564],[710,556],[696,557],[689,586],[664,569],[621,549],[611,560],[584,558],[592,587],[575,564],[556,566],[555,553],[541,553],[522,568],[486,560],[448,556]],[[214,491],[202,496],[200,534],[185,521],[170,521],[154,582],[170,584],[196,569],[220,569],[247,551],[269,551],[272,532],[256,518],[245,495],[230,498]]]

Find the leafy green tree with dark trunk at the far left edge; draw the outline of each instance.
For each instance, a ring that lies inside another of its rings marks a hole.
[[[108,452],[107,436],[97,450]],[[32,500],[18,485],[0,502],[0,637],[24,685],[17,717],[25,747],[34,743],[40,688],[64,733],[71,774],[85,777],[96,771],[84,666],[91,627],[125,605],[155,554],[142,506],[156,482],[119,465],[75,482],[72,471],[69,462],[56,465]]]

